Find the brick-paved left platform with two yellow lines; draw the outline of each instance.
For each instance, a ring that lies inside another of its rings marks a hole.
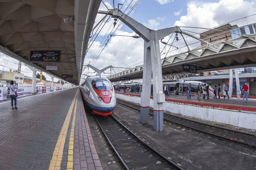
[[[0,104],[0,170],[102,170],[78,88]]]

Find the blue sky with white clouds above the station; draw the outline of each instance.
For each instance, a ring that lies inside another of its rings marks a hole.
[[[115,8],[117,8],[118,3],[123,4],[122,8],[121,6],[119,6],[119,8],[127,14],[136,2],[137,0],[115,0],[114,5]],[[109,9],[113,8],[113,0],[104,0],[104,3]],[[107,11],[107,8],[102,3],[99,10]],[[256,0],[140,0],[129,14],[129,17],[132,17],[134,20],[142,23],[150,29],[158,30],[172,26],[213,28],[252,14],[256,14]],[[102,19],[102,17],[104,17],[103,14],[97,15],[95,25]],[[101,31],[94,31],[96,34],[99,33],[97,37],[95,36],[96,39],[89,40],[90,43],[88,47],[90,48],[85,56],[84,65],[90,63],[99,69],[109,65],[124,68],[132,68],[136,65],[142,65],[143,39],[134,39],[132,37],[122,36],[108,37],[110,31],[112,29],[115,30],[116,28],[117,30],[114,32],[115,35],[133,36],[136,34],[128,28],[128,26],[125,26],[125,24],[122,23],[119,25],[119,20],[117,21],[115,28],[113,28],[113,18],[110,17],[108,20],[107,18],[108,17],[106,17],[102,25],[99,27],[99,30]],[[102,28],[104,23],[105,26]],[[231,22],[230,24],[244,26],[251,23],[256,23],[255,16],[243,18],[241,20]],[[199,28],[180,28],[185,31],[193,31],[196,33],[206,30]],[[198,36],[198,34],[196,34],[196,36]],[[170,36],[165,37],[163,41],[167,42],[169,37]],[[181,39],[180,35],[178,37]],[[174,39],[175,37],[172,36],[169,43]],[[188,44],[195,42],[195,40],[190,37],[185,39]],[[163,50],[161,58],[187,50],[186,48],[181,48],[184,45],[184,42],[181,40],[178,42],[174,41],[173,45],[177,46],[179,49],[175,50],[175,48],[172,47],[170,49],[172,52],[166,54],[169,47],[167,46],[164,48],[164,45],[160,43],[160,51]],[[189,48],[196,48],[199,45],[200,43],[191,45]],[[3,54],[0,55],[1,70],[3,70],[2,65],[17,69],[17,63],[18,61],[11,57],[6,57]],[[9,70],[9,68],[4,67],[5,70]],[[30,71],[26,66],[23,65],[21,70],[24,71],[21,72],[24,75],[32,76],[32,71]],[[114,68],[112,69],[112,74],[115,74],[120,70],[123,69]],[[95,73],[92,72],[93,70],[85,68],[83,73],[95,75]],[[105,73],[108,74],[102,75],[109,75],[110,71],[105,71]],[[50,80],[49,76],[46,75],[46,77]]]

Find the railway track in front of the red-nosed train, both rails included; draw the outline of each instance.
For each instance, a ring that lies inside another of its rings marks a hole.
[[[126,170],[183,170],[157,152],[114,116],[95,116],[105,138]]]

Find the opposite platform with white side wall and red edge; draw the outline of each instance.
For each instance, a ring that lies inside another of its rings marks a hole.
[[[116,98],[140,104],[140,94],[116,92]],[[153,107],[151,96],[148,107]],[[181,116],[223,123],[250,130],[256,130],[256,100],[250,99],[242,103],[241,99],[201,99],[192,96],[166,96],[163,110]]]

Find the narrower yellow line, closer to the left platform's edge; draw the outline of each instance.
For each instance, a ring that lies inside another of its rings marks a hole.
[[[73,170],[73,154],[74,154],[74,134],[75,134],[75,123],[76,123],[76,106],[77,99],[73,114],[71,132],[70,132],[70,140],[68,145],[68,153],[67,153],[67,170]]]

